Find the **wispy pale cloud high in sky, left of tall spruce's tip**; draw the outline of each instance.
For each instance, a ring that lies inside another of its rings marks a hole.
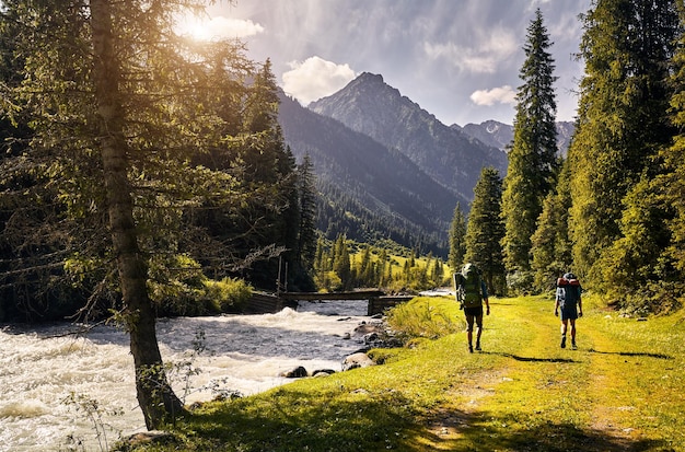
[[[519,50],[514,34],[503,27],[488,30],[476,39],[474,47],[449,43],[425,43],[423,50],[431,59],[446,59],[463,71],[495,73],[498,66]]]

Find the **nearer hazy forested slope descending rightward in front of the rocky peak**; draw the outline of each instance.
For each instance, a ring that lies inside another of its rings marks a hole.
[[[446,254],[446,232],[457,196],[397,150],[281,94],[279,123],[286,143],[301,161],[310,155],[321,199],[317,228],[335,239],[374,242]]]

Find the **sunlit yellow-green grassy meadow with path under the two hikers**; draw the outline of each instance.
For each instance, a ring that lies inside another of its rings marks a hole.
[[[492,299],[469,354],[448,298],[395,309],[380,366],[212,402],[136,451],[685,451],[685,312],[622,318],[592,299],[578,350],[544,297]]]

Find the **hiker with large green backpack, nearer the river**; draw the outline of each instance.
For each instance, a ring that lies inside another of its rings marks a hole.
[[[473,335],[474,322],[476,324],[476,350],[480,350],[480,334],[483,333],[483,302],[485,301],[486,314],[490,315],[488,289],[480,277],[480,271],[475,264],[466,264],[461,273],[454,274],[454,287],[456,300],[464,310],[467,324],[468,351],[474,352]]]

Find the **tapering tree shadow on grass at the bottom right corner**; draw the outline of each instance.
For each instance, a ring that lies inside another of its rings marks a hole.
[[[446,427],[442,430],[443,434],[433,433],[432,439],[434,444],[440,445],[440,450],[443,450],[443,447],[451,451],[641,452],[670,450],[662,449],[666,444],[660,440],[615,437],[606,431],[580,429],[571,424],[498,416],[488,412],[441,413],[439,418],[430,421],[432,430],[436,430],[434,426],[439,425],[441,419],[446,420]],[[455,434],[448,434],[451,426]]]

